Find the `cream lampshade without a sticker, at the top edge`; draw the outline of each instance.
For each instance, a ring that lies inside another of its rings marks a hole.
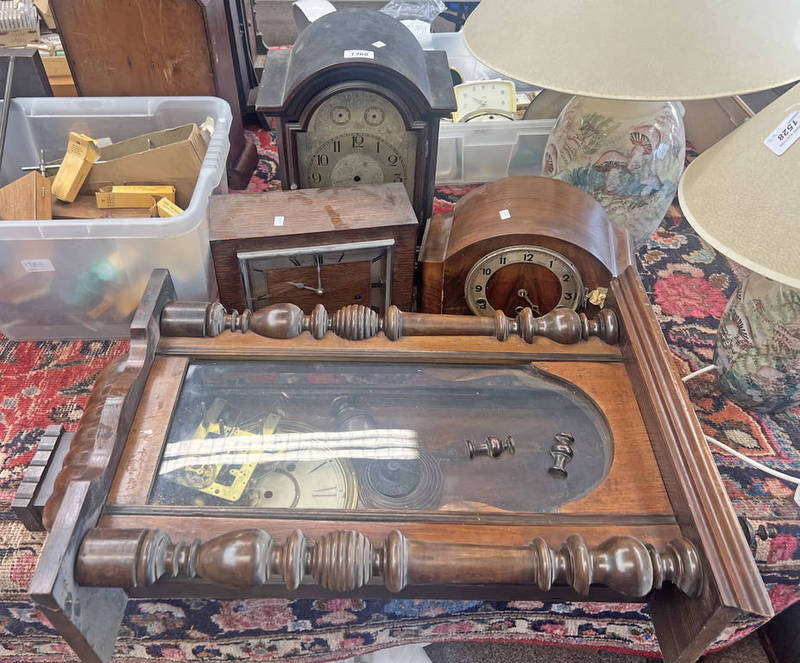
[[[708,99],[800,78],[798,0],[482,0],[464,38],[506,76],[588,97]]]

